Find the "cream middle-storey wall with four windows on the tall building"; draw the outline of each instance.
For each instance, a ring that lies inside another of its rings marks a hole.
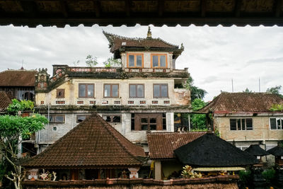
[[[94,84],[94,97],[79,98],[79,84]],[[103,97],[104,84],[119,84],[119,96]],[[144,98],[129,98],[129,84],[144,84]],[[154,98],[154,84],[168,84],[168,98]],[[64,98],[57,98],[57,88],[65,89]],[[174,79],[70,79],[57,88],[49,93],[36,93],[36,105],[58,105],[56,101],[64,101],[64,105],[93,105],[91,101],[96,101],[96,105],[189,105],[190,103],[190,92],[174,89]],[[78,104],[78,101],[83,103]],[[105,101],[108,103],[104,104]],[[128,101],[134,103],[129,104]],[[140,101],[146,103],[141,104]],[[152,101],[158,103],[153,104]]]

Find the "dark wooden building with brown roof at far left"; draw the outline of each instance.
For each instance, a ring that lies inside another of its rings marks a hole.
[[[37,74],[37,71],[23,68],[1,71],[0,91],[6,91],[11,98],[33,101],[35,96],[35,74]]]

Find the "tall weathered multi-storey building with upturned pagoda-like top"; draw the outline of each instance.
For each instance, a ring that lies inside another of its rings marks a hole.
[[[174,113],[190,112],[190,91],[182,88],[189,74],[175,69],[183,45],[151,38],[150,29],[147,38],[103,33],[121,67],[53,65],[53,76],[37,74],[37,111],[50,119],[37,134],[39,151],[94,111],[148,151],[146,132],[173,132]]]

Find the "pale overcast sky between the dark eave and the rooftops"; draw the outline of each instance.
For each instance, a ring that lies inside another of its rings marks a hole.
[[[147,26],[135,27],[42,27],[27,28],[0,26],[0,71],[47,68],[52,64],[69,64],[80,60],[86,66],[87,55],[103,62],[112,54],[108,40],[102,33],[145,38]],[[283,28],[275,27],[153,27],[153,38],[161,38],[174,45],[183,42],[184,52],[176,67],[188,67],[195,86],[204,88],[211,101],[220,91],[258,92],[283,85]]]

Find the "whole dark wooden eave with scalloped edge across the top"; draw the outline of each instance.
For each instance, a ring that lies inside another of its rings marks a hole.
[[[283,0],[2,0],[0,25],[283,25]]]

